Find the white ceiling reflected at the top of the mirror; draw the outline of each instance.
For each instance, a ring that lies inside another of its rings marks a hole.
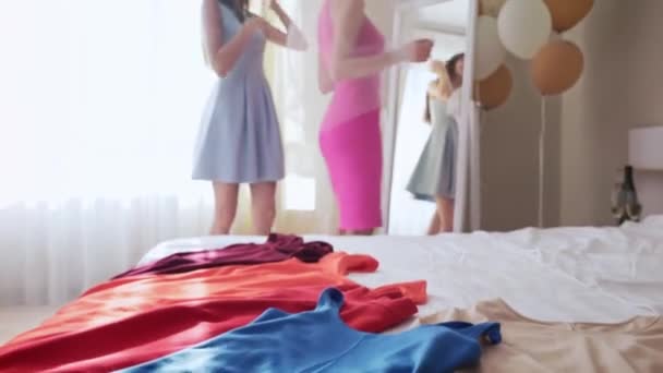
[[[465,33],[470,0],[448,0],[418,10],[419,23],[426,26]]]

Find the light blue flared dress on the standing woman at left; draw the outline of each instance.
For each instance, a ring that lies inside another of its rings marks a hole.
[[[219,7],[228,43],[242,23]],[[216,83],[195,145],[193,179],[258,183],[284,178],[280,129],[263,70],[265,41],[256,32],[233,69]]]

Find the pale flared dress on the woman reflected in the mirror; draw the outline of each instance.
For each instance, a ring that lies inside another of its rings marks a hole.
[[[430,97],[431,136],[408,183],[414,198],[454,198],[456,191],[456,144],[458,124],[448,113],[447,103]]]

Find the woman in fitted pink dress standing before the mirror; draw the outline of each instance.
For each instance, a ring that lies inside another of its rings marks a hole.
[[[371,234],[382,227],[379,74],[400,62],[426,61],[433,43],[418,40],[385,52],[363,0],[325,0],[318,41],[320,88],[334,92],[320,144],[339,205],[339,230]]]

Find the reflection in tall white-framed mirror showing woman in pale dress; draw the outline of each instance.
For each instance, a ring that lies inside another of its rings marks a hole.
[[[401,34],[435,41],[431,62],[398,76],[390,234],[451,231],[469,0],[414,8]]]

